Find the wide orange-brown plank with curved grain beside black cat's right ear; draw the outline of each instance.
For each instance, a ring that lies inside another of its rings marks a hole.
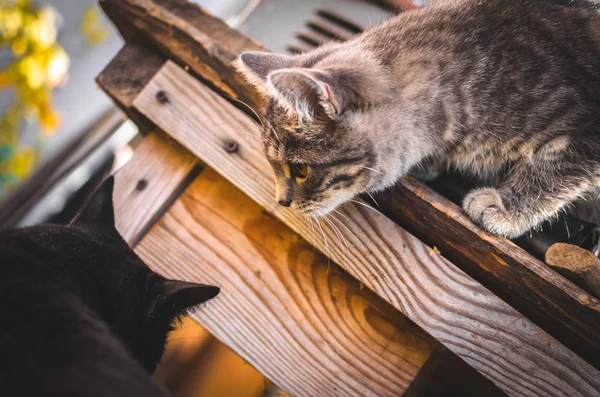
[[[439,346],[211,169],[136,251],[220,286],[195,318],[292,395],[398,396]]]

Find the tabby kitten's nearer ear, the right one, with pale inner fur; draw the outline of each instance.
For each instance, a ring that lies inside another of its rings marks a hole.
[[[311,69],[283,69],[268,76],[269,93],[303,120],[325,116],[335,119],[342,111],[341,93],[326,73]]]

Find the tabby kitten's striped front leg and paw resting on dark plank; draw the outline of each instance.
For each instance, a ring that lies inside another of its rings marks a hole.
[[[595,183],[584,171],[565,177],[544,168],[523,164],[497,189],[481,188],[469,193],[463,208],[486,230],[516,238],[556,215],[564,206],[591,190]]]

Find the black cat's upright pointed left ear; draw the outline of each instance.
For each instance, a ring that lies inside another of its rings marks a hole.
[[[109,176],[89,198],[83,209],[73,218],[71,224],[115,225],[113,209],[114,176]]]

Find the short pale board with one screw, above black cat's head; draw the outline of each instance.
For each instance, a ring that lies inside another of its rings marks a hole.
[[[115,175],[115,221],[135,246],[195,176],[198,160],[178,143],[149,134]]]

